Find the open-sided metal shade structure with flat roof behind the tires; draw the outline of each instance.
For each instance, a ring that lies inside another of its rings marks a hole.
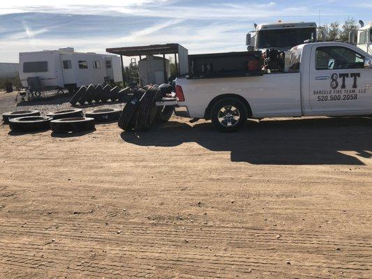
[[[188,73],[188,50],[185,47],[179,45],[178,43],[169,43],[163,45],[142,45],[135,47],[112,47],[107,48],[106,52],[119,54],[121,57],[122,64],[123,56],[139,56],[141,60],[142,56],[147,55],[163,55],[163,59],[165,59],[165,54],[174,54],[174,62],[176,64],[177,74],[186,75],[186,73]],[[124,75],[124,65],[122,66]],[[164,70],[164,76],[165,75],[166,73]],[[164,80],[166,80],[166,77],[164,77]]]

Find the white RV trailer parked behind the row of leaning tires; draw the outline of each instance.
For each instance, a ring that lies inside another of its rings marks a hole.
[[[103,84],[105,78],[123,81],[119,56],[75,52],[72,47],[21,52],[19,72],[24,87],[28,86],[27,77],[39,77],[45,87],[68,91],[83,85]]]

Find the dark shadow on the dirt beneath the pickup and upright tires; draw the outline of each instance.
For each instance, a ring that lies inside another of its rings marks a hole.
[[[196,142],[211,151],[230,151],[232,162],[257,165],[364,165],[342,151],[372,157],[370,118],[248,121],[231,134],[217,132],[211,123],[168,122],[147,133],[121,133],[121,138],[140,146]]]

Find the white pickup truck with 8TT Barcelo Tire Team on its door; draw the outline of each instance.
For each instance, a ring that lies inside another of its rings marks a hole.
[[[222,132],[234,132],[246,119],[281,116],[372,114],[372,57],[346,43],[293,47],[289,73],[243,77],[177,78],[177,115],[211,119]],[[185,111],[185,110],[184,110]]]

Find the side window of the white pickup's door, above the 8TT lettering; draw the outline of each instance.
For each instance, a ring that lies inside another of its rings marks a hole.
[[[317,70],[364,68],[364,56],[348,47],[318,47],[315,68]]]

